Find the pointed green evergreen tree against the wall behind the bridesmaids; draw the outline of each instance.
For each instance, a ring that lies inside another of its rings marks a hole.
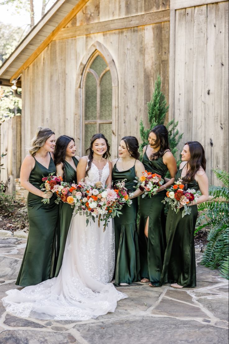
[[[141,155],[143,147],[149,143],[148,135],[150,130],[152,130],[155,126],[159,124],[164,124],[165,116],[169,109],[169,106],[166,105],[165,95],[161,92],[161,78],[159,75],[157,76],[157,79],[155,81],[152,99],[147,103],[147,105],[149,128],[145,129],[142,119],[140,121],[140,136],[142,139],[142,143],[140,144]],[[177,145],[183,136],[183,134],[179,134],[177,126],[178,122],[175,122],[174,120],[171,120],[166,126],[169,132],[169,146],[172,154],[175,157],[177,153]],[[178,166],[179,164],[180,161],[178,161]]]

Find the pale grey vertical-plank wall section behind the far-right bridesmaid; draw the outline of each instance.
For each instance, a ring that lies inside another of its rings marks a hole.
[[[172,4],[170,3],[171,7]],[[212,168],[228,171],[228,1],[170,14],[170,112],[184,142],[196,140]]]

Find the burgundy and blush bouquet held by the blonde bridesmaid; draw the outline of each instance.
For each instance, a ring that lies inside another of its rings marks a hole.
[[[54,173],[49,173],[47,177],[43,176],[43,183],[40,185],[40,188],[41,190],[45,190],[46,192],[51,191],[52,193],[56,193],[58,197],[61,197],[61,190],[64,188],[64,185],[66,183],[63,182],[61,176],[53,174]],[[49,204],[49,198],[43,198],[41,202]],[[59,203],[58,198],[55,202]]]

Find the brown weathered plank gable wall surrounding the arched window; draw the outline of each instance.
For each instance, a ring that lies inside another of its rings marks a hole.
[[[167,9],[169,3],[164,1],[161,5],[161,1],[154,1],[152,5],[152,1],[146,0],[112,0],[107,10],[105,2],[89,1],[71,25],[160,11]],[[124,135],[140,137],[140,119],[143,118],[147,124],[147,102],[152,96],[158,74],[161,75],[162,89],[168,101],[169,21],[52,41],[23,72],[23,156],[25,147],[29,146],[40,125],[53,129],[57,137],[72,135],[76,139],[77,153],[80,153],[76,74],[83,56],[96,41],[110,52],[118,73],[118,140]]]

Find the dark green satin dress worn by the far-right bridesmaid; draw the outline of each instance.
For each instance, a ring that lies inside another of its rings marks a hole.
[[[181,178],[182,170],[176,174],[175,181]],[[199,190],[194,180],[188,189]],[[166,220],[167,247],[161,274],[161,283],[178,283],[183,287],[196,287],[196,262],[194,247],[194,230],[198,216],[196,205],[191,206],[191,214],[182,218],[182,208],[176,214],[169,207]]]

